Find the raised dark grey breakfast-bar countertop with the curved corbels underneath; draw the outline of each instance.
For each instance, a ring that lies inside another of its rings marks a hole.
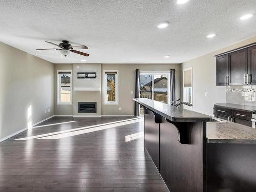
[[[134,98],[133,100],[170,121],[197,122],[211,120],[210,116],[186,110],[183,108],[183,106],[176,107],[146,98]]]

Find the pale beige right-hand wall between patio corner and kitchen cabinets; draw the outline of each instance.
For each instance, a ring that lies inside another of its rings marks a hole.
[[[226,86],[216,86],[216,58],[214,55],[251,44],[255,41],[256,37],[253,37],[182,63],[181,95],[182,70],[190,67],[193,70],[193,108],[191,110],[212,115],[212,106],[215,103],[226,102]],[[207,92],[207,97],[205,96],[205,92]]]

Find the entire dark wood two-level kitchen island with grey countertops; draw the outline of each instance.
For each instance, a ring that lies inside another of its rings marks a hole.
[[[182,106],[134,100],[144,109],[144,146],[170,191],[256,191],[255,130],[212,122]]]

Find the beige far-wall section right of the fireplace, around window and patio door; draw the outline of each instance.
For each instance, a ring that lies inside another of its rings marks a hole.
[[[141,71],[169,71],[176,69],[176,88],[177,98],[179,98],[180,87],[180,65],[179,64],[102,64],[102,82],[101,89],[103,90],[103,70],[118,70],[119,77],[119,104],[106,105],[103,102],[102,95],[102,115],[134,115],[134,101],[135,94],[135,70]],[[102,93],[103,94],[103,93]],[[121,110],[119,111],[119,108]]]

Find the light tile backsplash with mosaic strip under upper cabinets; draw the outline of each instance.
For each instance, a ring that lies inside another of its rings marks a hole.
[[[227,103],[256,106],[256,86],[227,86]]]

